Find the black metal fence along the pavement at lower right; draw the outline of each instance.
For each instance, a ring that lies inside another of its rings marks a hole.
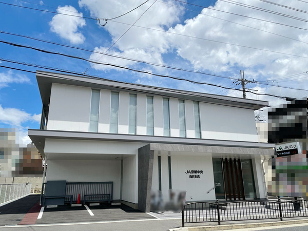
[[[184,205],[182,226],[185,223],[243,221],[306,217],[306,200],[231,201],[220,203],[193,202]]]

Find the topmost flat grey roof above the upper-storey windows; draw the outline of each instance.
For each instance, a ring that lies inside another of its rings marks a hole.
[[[112,81],[103,78],[90,78],[88,76],[69,75],[63,73],[36,71],[38,88],[40,89],[43,105],[48,105],[50,100],[51,84],[67,84],[90,88],[108,89],[114,91],[127,91],[148,95],[162,95],[164,97],[186,99],[205,103],[220,104],[232,107],[260,109],[268,106],[267,101],[228,97],[225,95],[207,94],[194,91],[177,90],[171,88],[153,87],[133,83]]]

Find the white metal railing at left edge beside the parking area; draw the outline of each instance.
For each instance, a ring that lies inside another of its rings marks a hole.
[[[0,204],[29,195],[31,183],[25,184],[0,184]]]

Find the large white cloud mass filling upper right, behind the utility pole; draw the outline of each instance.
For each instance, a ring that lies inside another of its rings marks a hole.
[[[124,3],[115,1],[99,2],[95,0],[79,0],[79,6],[88,9],[92,16],[112,18],[131,10],[134,6],[138,6],[143,1],[140,0],[138,3],[136,2],[137,1],[133,0],[128,0]],[[114,20],[118,23],[109,21],[106,26],[100,27],[102,30],[107,30],[109,32],[112,41],[110,44],[104,42],[101,46],[96,47],[95,51],[105,52],[108,47],[117,41],[130,27],[130,25],[127,24],[133,24],[152,3],[153,1],[149,1],[131,13]],[[304,13],[279,7],[274,4],[264,3],[262,1],[251,2],[249,0],[243,0],[241,3],[294,15],[299,18],[306,17]],[[290,2],[281,0],[280,4],[297,9],[304,9],[306,7],[305,3],[298,1]],[[164,2],[155,2],[136,23],[136,27],[131,27],[109,53],[147,62],[177,66],[183,69],[195,69],[227,76],[235,76],[240,70],[245,70],[246,79],[258,80],[260,83],[261,81],[275,80],[308,70],[306,67],[307,59],[300,57],[307,56],[308,53],[308,33],[306,30],[253,20],[248,17],[260,18],[286,25],[295,25],[296,27],[302,28],[306,28],[306,22],[222,1],[217,1],[215,5],[209,7],[209,9],[204,8],[202,13],[197,14],[193,18],[184,18],[183,16],[186,15],[184,13],[188,15],[189,11],[186,11],[182,6],[189,8],[189,5],[180,5],[175,3],[175,1],[165,0]],[[227,12],[246,15],[248,17],[241,17]],[[144,27],[154,30],[149,30]],[[164,30],[165,32],[159,30]],[[101,56],[101,54],[92,53],[90,58],[98,60]],[[144,68],[144,66],[138,66],[139,64],[135,62],[107,56],[103,56],[101,61],[134,67],[136,69]],[[179,62],[177,63],[176,61]],[[112,67],[95,65],[94,68],[108,70]],[[156,67],[152,67],[148,69],[155,71],[155,68]],[[122,69],[117,70],[122,71]],[[156,68],[156,70],[158,69]],[[159,72],[166,74],[168,71],[170,70],[164,69]],[[178,72],[177,76],[182,78],[184,76],[187,79],[209,83],[218,82],[218,78],[208,78],[207,76],[196,74],[186,75],[183,72]],[[308,74],[301,76],[301,78],[305,78],[305,76],[308,78]],[[145,78],[137,78],[139,83],[153,82],[152,80],[146,81]],[[294,78],[289,80],[291,81],[272,81],[263,83],[308,89],[308,81],[306,81],[306,79]],[[162,85],[166,86],[166,82],[167,81],[162,83]],[[177,86],[186,85],[185,89],[188,87],[187,83],[184,82],[177,82],[176,84]],[[234,87],[235,85],[232,86]],[[262,92],[268,94],[284,97],[301,98],[307,94],[306,91],[290,90],[268,85],[257,86],[260,88],[260,92],[262,90]],[[198,87],[198,89],[202,89],[202,87]],[[249,88],[251,86],[247,87]],[[253,87],[255,87],[255,85],[253,85]],[[194,85],[189,85],[189,90],[192,89],[196,89],[196,87]],[[207,89],[207,87],[203,89]],[[206,92],[206,90],[202,91]],[[211,93],[215,94],[217,92],[221,92],[221,88],[217,88],[217,90],[213,90]],[[224,94],[229,95],[233,95],[235,92],[236,91],[233,90],[223,91]],[[242,97],[241,92],[237,92],[236,96]],[[283,100],[277,100],[277,98],[263,97],[261,95],[258,97],[253,94],[247,94],[247,98],[264,99],[269,101],[269,104],[273,106],[285,102]]]

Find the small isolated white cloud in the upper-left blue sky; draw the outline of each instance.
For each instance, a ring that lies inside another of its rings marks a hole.
[[[56,10],[58,13],[68,13],[71,15],[82,16],[82,13],[72,6],[58,7]],[[50,30],[60,37],[68,40],[72,44],[82,44],[85,41],[85,37],[79,31],[86,25],[86,21],[81,17],[72,17],[69,15],[56,14],[49,22]]]

